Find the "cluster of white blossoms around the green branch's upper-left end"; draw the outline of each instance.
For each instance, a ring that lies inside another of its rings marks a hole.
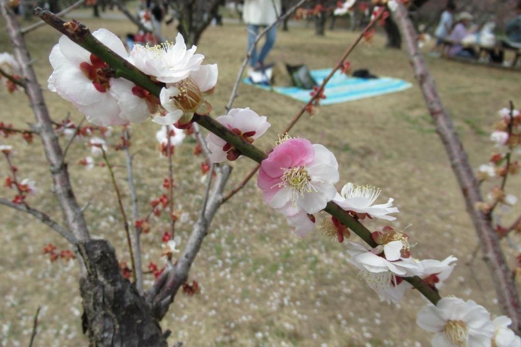
[[[49,56],[54,71],[48,88],[75,105],[91,123],[123,125],[153,117],[160,125],[182,126],[194,113],[204,115],[211,109],[204,94],[211,93],[217,83],[217,65],[201,65],[204,56],[195,54],[195,46],[187,49],[181,34],[175,44],[134,45],[130,53],[106,29],[93,35],[157,83],[164,83],[164,88],[158,98],[133,82],[116,78],[103,60],[63,35]]]

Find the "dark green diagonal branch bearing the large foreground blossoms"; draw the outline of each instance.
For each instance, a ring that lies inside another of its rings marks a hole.
[[[57,29],[61,33],[67,35],[69,39],[76,42],[78,45],[85,48],[92,54],[96,55],[98,58],[105,61],[105,63],[107,63],[110,67],[116,70],[117,77],[123,77],[129,81],[132,81],[135,84],[142,86],[155,96],[159,97],[160,90],[164,86],[163,84],[158,84],[152,81],[150,77],[148,77],[143,72],[132,66],[130,63],[128,63],[128,61],[111,51],[100,41],[96,40],[96,38],[94,38],[94,36],[92,36],[92,34],[90,33],[89,29],[85,27],[83,24],[75,22],[75,24],[78,25],[78,28],[75,30],[74,33],[70,33],[69,31],[67,31],[66,27],[64,27],[65,22],[53,15],[51,12],[41,8],[36,8],[34,10],[34,13],[37,16],[39,16],[42,20],[47,22],[50,26]],[[264,159],[268,157],[268,154],[266,152],[252,145],[251,143],[246,142],[237,134],[233,133],[228,128],[223,126],[221,123],[209,116],[194,115],[193,120],[199,123],[199,125],[201,125],[202,127],[206,128],[208,131],[216,134],[222,140],[225,140],[226,142],[237,148],[237,150],[240,151],[242,155],[249,157],[252,160],[255,160],[255,162],[257,163],[261,163]],[[324,210],[325,212],[337,218],[344,226],[351,229],[371,247],[375,247],[377,245],[376,242],[371,238],[371,232],[366,227],[364,227],[359,221],[351,217],[349,214],[345,213],[345,211],[336,203],[330,201]],[[436,303],[441,299],[440,295],[438,294],[438,291],[429,287],[427,283],[425,283],[418,276],[404,279],[407,282],[411,283],[433,304],[436,305]]]

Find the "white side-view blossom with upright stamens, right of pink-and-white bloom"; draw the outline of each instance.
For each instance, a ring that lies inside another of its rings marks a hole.
[[[390,213],[400,212],[397,207],[392,207],[394,199],[389,198],[386,204],[373,205],[378,195],[379,189],[348,183],[342,188],[341,194],[336,193],[333,201],[345,211],[367,214],[371,218],[395,220],[396,217],[388,216]]]

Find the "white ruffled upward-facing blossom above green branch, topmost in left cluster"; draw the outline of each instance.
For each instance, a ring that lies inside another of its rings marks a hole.
[[[176,83],[199,70],[204,55],[195,54],[196,46],[187,50],[183,35],[176,36],[176,43],[164,42],[150,47],[134,45],[130,52],[135,67],[160,82]]]

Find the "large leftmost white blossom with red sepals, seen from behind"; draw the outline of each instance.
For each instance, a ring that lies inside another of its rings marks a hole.
[[[106,29],[92,33],[116,54],[128,56],[121,40]],[[108,65],[95,55],[63,35],[49,56],[54,69],[48,79],[48,88],[75,105],[87,120],[95,125],[121,125],[128,119],[121,118],[116,98],[109,92],[113,76],[104,70]]]

